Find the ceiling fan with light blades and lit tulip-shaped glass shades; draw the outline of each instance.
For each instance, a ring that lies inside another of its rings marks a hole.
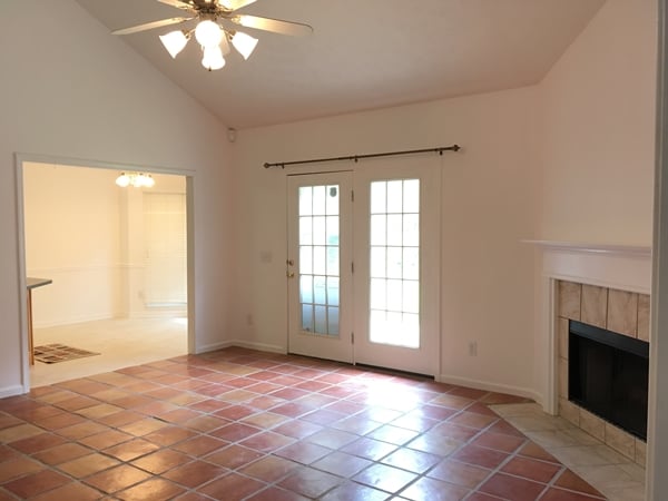
[[[160,19],[112,31],[114,35],[131,35],[139,31],[153,30],[173,24],[190,23],[188,29],[180,29],[160,36],[160,41],[173,58],[184,50],[188,40],[195,39],[202,46],[202,65],[210,70],[225,66],[225,56],[230,52],[230,45],[248,59],[257,39],[239,31],[238,28],[250,30],[271,31],[279,35],[304,36],[313,32],[308,24],[281,19],[261,18],[238,13],[244,7],[255,3],[256,0],[157,0],[170,7],[184,10],[186,16]]]

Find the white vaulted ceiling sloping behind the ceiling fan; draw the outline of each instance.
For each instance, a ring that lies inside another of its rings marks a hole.
[[[180,16],[156,0],[77,0],[109,30]],[[253,32],[244,61],[173,60],[163,28],[122,39],[237,129],[537,84],[605,0],[258,0],[245,13],[299,21],[308,37]],[[252,30],[247,30],[250,32]],[[114,37],[109,35],[109,37]]]

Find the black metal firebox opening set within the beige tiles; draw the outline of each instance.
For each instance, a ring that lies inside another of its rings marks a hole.
[[[649,343],[569,321],[568,399],[647,439]]]

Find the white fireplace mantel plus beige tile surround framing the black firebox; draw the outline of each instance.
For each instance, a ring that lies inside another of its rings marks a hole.
[[[537,356],[546,367],[537,372],[543,409],[644,466],[647,444],[638,436],[645,434],[642,426],[635,426],[633,433],[629,433],[609,418],[600,418],[596,407],[590,407],[595,409],[592,412],[578,403],[581,395],[570,399],[569,324],[581,322],[649,342],[651,249],[553,240],[528,243],[540,249],[542,269],[537,282],[536,342]],[[589,379],[587,384],[591,386],[598,381]]]

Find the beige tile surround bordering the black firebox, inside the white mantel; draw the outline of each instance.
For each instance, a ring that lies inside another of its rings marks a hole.
[[[559,414],[645,466],[646,443],[568,400],[569,321],[649,342],[649,295],[559,279],[556,282]]]

